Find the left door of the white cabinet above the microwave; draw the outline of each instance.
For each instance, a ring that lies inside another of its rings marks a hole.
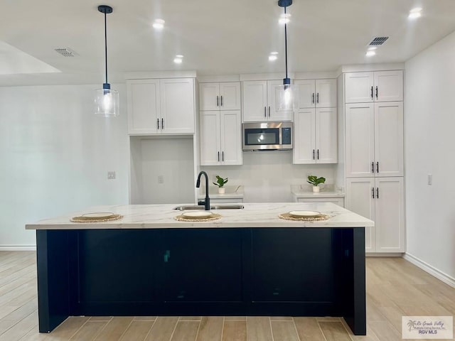
[[[267,81],[245,81],[242,84],[243,121],[267,120]]]

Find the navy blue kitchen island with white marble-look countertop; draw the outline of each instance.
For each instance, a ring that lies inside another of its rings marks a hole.
[[[40,332],[70,315],[342,316],[365,335],[365,227],[331,203],[243,204],[181,222],[177,205],[90,207],[36,229]],[[283,220],[314,210],[321,221]],[[89,212],[121,220],[70,222]]]

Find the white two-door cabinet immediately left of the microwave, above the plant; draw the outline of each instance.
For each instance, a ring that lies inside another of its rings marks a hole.
[[[200,112],[200,165],[242,164],[240,110]]]

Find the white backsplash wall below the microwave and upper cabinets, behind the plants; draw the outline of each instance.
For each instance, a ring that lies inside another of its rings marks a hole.
[[[215,182],[215,175],[229,178],[228,185],[243,185],[244,202],[291,202],[291,185],[306,185],[308,175],[334,183],[335,166],[293,165],[292,151],[246,151],[242,166],[201,166]],[[321,185],[322,187],[322,185]]]

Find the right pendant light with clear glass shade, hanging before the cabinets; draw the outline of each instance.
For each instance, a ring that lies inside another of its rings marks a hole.
[[[298,107],[297,92],[294,86],[291,86],[291,79],[287,75],[287,13],[286,8],[291,6],[292,0],[279,0],[278,6],[284,7],[284,58],[286,60],[286,77],[283,79],[283,85],[275,88],[275,100],[277,110],[292,110]]]

